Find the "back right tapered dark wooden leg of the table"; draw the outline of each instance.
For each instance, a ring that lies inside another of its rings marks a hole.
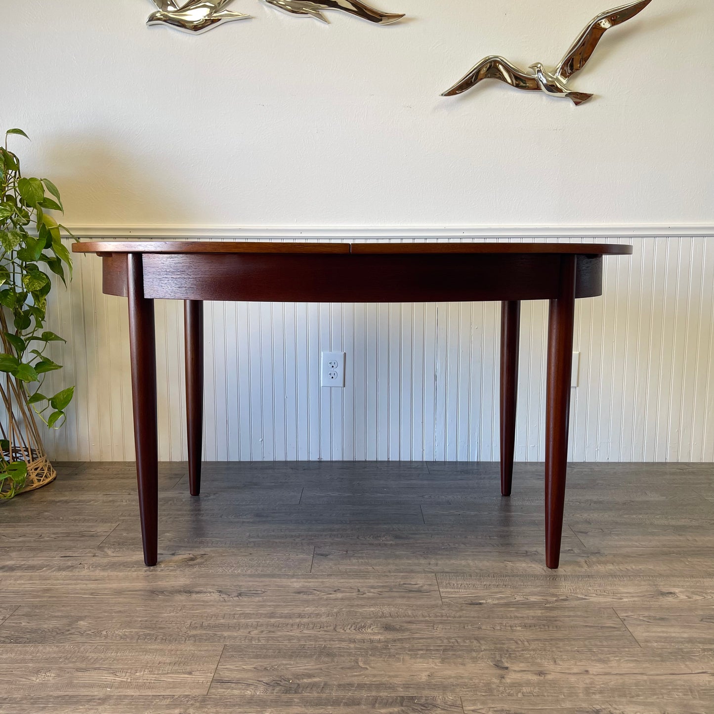
[[[521,302],[501,303],[501,496],[511,496],[516,448],[516,397]]]

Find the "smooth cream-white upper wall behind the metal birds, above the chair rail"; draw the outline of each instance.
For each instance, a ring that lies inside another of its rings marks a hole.
[[[144,26],[149,0],[0,0],[0,126],[74,225],[714,225],[711,0],[610,31],[578,109],[439,94],[487,54],[557,63],[618,0],[374,1],[410,19],[235,0],[255,19],[192,37]]]

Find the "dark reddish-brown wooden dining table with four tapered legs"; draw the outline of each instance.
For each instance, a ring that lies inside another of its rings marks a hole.
[[[511,495],[521,301],[548,300],[545,564],[558,568],[568,456],[575,299],[603,290],[612,243],[87,242],[102,258],[104,293],[129,298],[136,475],[144,563],[157,562],[158,440],[154,300],[183,300],[188,473],[201,488],[203,301],[501,301],[501,493]]]

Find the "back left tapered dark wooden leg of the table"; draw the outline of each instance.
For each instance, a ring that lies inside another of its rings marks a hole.
[[[188,486],[201,493],[203,446],[203,301],[184,302],[186,341],[186,421],[188,424]]]

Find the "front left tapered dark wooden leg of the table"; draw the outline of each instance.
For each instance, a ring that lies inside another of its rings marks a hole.
[[[156,329],[154,301],[144,297],[140,253],[126,256],[129,296],[131,391],[134,398],[136,481],[139,486],[144,563],[156,565],[159,519],[159,447],[156,433]]]

